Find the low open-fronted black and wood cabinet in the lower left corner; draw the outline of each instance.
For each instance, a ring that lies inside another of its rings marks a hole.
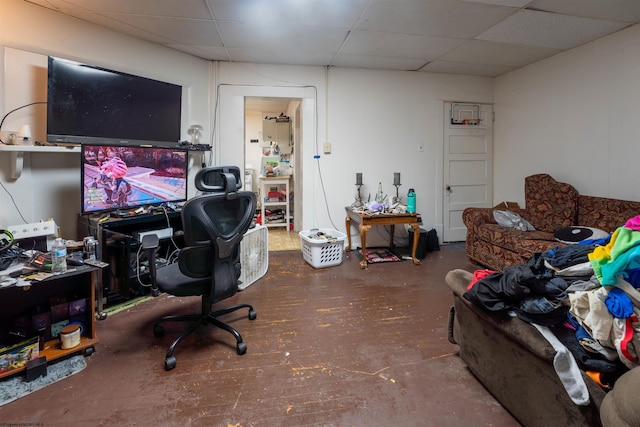
[[[51,362],[52,360],[66,357],[69,354],[77,352],[83,352],[85,356],[92,354],[94,346],[98,343],[94,315],[94,301],[96,296],[95,273],[98,270],[97,267],[93,266],[78,266],[64,274],[51,276],[42,281],[31,281],[30,286],[0,288],[0,313],[2,313],[0,330],[7,331],[12,327],[16,319],[23,319],[21,324],[30,329],[30,336],[36,336],[38,335],[37,331],[32,330],[32,322],[34,322],[32,314],[36,307],[42,308],[44,310],[42,313],[47,314],[50,313],[50,311],[46,312],[46,309],[50,309],[49,303],[51,297],[69,296],[85,299],[86,308],[84,315],[75,316],[82,317],[82,321],[86,327],[84,335],[80,339],[80,344],[70,349],[62,349],[58,338],[47,339],[42,350],[40,350],[40,356],[46,356],[47,362]],[[69,317],[73,316],[69,314]],[[49,322],[47,327],[50,328],[50,325],[51,323]],[[13,375],[24,369],[26,369],[26,366],[0,372],[0,378]]]

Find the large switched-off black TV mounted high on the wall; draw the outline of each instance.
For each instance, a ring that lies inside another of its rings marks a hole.
[[[182,86],[49,57],[47,140],[176,146]]]

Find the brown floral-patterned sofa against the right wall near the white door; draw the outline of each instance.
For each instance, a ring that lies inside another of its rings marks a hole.
[[[581,195],[572,185],[548,174],[526,177],[524,196],[524,208],[509,210],[528,221],[535,231],[499,225],[494,208],[463,211],[466,253],[471,261],[501,271],[507,265],[526,262],[535,253],[564,245],[554,238],[558,230],[579,226],[611,233],[640,214],[640,202]]]

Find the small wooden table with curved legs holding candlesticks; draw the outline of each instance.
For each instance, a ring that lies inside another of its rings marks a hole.
[[[420,224],[418,223],[417,213],[404,214],[367,214],[365,212],[354,211],[350,206],[345,207],[347,217],[345,225],[347,228],[347,248],[351,250],[351,220],[360,226],[360,240],[362,243],[362,261],[360,268],[367,268],[367,231],[374,225],[388,225],[391,228],[391,238],[389,239],[389,247],[393,248],[393,232],[396,224],[409,224],[413,228],[413,248],[411,258],[414,265],[419,265],[420,260],[416,258],[416,249],[418,248],[418,240],[420,239]]]

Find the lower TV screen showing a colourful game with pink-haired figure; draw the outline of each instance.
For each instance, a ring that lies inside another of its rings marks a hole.
[[[187,200],[188,151],[82,145],[82,213]]]

